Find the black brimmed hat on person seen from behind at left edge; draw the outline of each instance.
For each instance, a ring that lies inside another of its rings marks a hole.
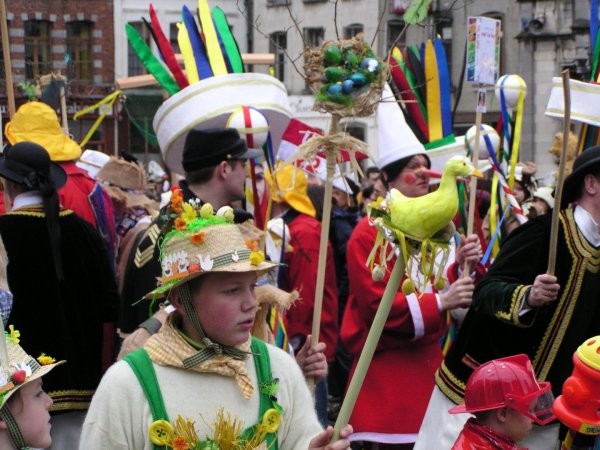
[[[19,142],[4,151],[0,158],[0,176],[15,183],[36,189],[35,174],[46,175],[55,189],[67,182],[67,173],[50,160],[44,147],[34,142]]]

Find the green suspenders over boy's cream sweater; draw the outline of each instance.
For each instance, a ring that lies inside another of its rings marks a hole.
[[[271,361],[269,359],[269,351],[267,349],[267,345],[257,339],[252,337],[252,344],[250,346],[252,350],[252,354],[254,355],[254,365],[256,366],[256,376],[258,378],[259,387],[263,383],[268,383],[272,381],[271,375]],[[167,415],[167,411],[165,409],[165,404],[163,401],[162,394],[160,392],[160,387],[158,386],[158,380],[156,379],[156,372],[154,371],[154,367],[152,366],[152,361],[148,356],[148,353],[143,348],[138,348],[132,353],[129,353],[125,358],[123,358],[135,373],[140,385],[142,386],[142,390],[148,399],[148,403],[150,404],[150,411],[152,412],[153,420],[169,420],[169,416]],[[273,397],[266,392],[260,391],[260,408],[259,408],[259,420],[263,417],[265,411],[273,408]],[[242,435],[248,436],[251,435],[254,431],[256,425],[249,427],[246,429]],[[277,432],[268,433],[266,436],[267,448],[269,450],[277,450]],[[161,447],[154,445],[155,450],[159,450]]]

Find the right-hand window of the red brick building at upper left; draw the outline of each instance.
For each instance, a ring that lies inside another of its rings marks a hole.
[[[93,23],[73,21],[67,23],[67,77],[69,80],[92,80],[94,64],[92,57]]]

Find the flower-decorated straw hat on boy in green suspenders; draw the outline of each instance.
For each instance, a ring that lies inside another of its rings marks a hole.
[[[160,248],[162,275],[146,298],[160,298],[171,289],[208,272],[263,272],[275,266],[233,222],[233,208],[213,210],[210,203],[184,202],[177,189],[167,210],[169,220]]]

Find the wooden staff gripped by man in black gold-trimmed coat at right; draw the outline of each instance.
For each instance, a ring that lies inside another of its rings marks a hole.
[[[569,69],[561,73],[563,80],[563,97],[565,102],[565,115],[563,116],[563,145],[560,152],[558,165],[558,180],[554,192],[554,208],[552,209],[552,225],[550,228],[550,253],[548,255],[548,275],[554,275],[556,267],[556,243],[558,241],[558,219],[560,217],[560,203],[562,201],[562,189],[565,179],[565,164],[567,162],[567,146],[569,144],[569,132],[571,128],[571,88],[569,87]]]

